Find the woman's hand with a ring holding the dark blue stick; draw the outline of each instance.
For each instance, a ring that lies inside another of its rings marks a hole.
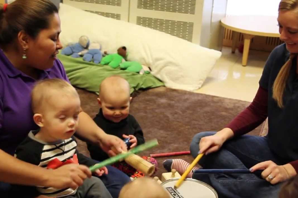
[[[291,164],[277,165],[273,161],[264,161],[250,168],[250,171],[263,170],[262,178],[271,184],[284,182],[294,177],[297,173]]]

